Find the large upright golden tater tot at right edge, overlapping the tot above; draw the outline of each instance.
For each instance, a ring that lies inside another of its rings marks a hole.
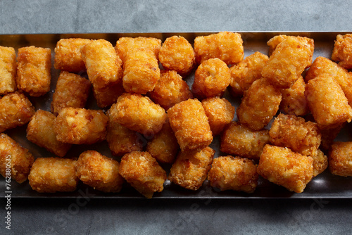
[[[332,129],[346,121],[351,122],[352,108],[348,106],[344,91],[329,75],[309,80],[304,94],[320,129]]]

